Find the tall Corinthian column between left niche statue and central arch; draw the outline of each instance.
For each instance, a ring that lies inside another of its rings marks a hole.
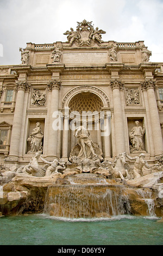
[[[48,127],[48,157],[57,157],[57,145],[58,145],[58,130],[54,129],[53,121],[54,116],[57,118],[58,104],[59,104],[59,89],[60,81],[51,80],[48,83],[49,91],[51,91],[51,103],[49,111],[49,127]],[[58,117],[59,118],[59,117]]]

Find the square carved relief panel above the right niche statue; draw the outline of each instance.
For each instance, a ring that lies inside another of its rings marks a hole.
[[[126,88],[126,105],[140,105],[140,92],[138,88]]]

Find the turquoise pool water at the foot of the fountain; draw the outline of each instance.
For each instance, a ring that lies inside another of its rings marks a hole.
[[[75,219],[44,214],[0,218],[0,245],[163,245],[158,218]]]

